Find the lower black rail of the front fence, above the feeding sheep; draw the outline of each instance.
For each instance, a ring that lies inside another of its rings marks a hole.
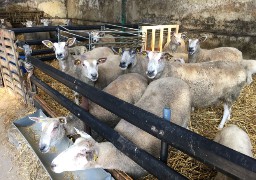
[[[34,75],[31,76],[31,81],[154,176],[159,179],[186,179],[184,176],[159,161],[157,158],[140,149],[131,141],[125,139],[108,125],[99,121],[90,113],[84,111],[80,106],[70,101],[68,98],[48,86],[40,79],[36,78]]]

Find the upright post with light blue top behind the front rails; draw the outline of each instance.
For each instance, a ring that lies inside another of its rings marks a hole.
[[[171,120],[171,110],[169,107],[164,108],[163,118],[166,121]],[[161,141],[160,160],[167,164],[167,158],[168,158],[168,143]]]

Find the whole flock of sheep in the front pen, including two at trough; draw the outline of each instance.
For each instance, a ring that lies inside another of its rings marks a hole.
[[[252,157],[248,135],[236,125],[223,127],[230,119],[231,106],[241,90],[252,82],[256,61],[243,60],[241,51],[232,47],[201,49],[200,43],[205,41],[205,36],[189,39],[187,46],[183,38],[186,36],[182,33],[172,33],[164,52],[123,48],[120,54],[108,47],[96,47],[73,55],[71,46],[75,38],[58,43],[42,42],[54,49],[61,71],[159,117],[164,107],[170,107],[171,121],[184,128],[188,128],[194,107],[223,105],[223,118],[218,126],[221,130],[214,141]],[[78,98],[75,92],[77,104]],[[114,127],[138,147],[159,156],[159,139],[86,101],[92,115]],[[72,146],[52,161],[51,168],[56,173],[104,168],[122,170],[134,178],[147,174],[110,142],[96,142],[83,132],[83,122],[73,115],[30,119],[42,123],[39,149],[43,153],[49,152],[66,135],[80,134]],[[218,173],[215,179],[223,176]]]

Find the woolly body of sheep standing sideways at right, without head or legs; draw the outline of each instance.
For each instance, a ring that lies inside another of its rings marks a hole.
[[[168,63],[163,75],[188,83],[192,106],[232,104],[246,84],[247,72],[239,63],[214,61],[193,64]]]

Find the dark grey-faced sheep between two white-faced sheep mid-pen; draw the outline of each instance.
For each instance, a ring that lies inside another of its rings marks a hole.
[[[124,48],[122,49],[120,68],[126,73],[139,73],[147,78],[145,72],[147,70],[148,60],[146,56],[138,53],[137,48]]]

